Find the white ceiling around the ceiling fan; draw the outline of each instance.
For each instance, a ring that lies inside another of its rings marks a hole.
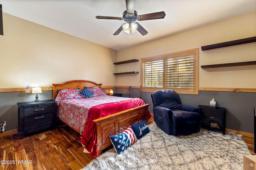
[[[138,21],[148,34],[113,33],[125,21],[125,0],[0,0],[3,12],[52,29],[120,50],[186,29],[256,10],[256,0],[135,0],[138,15],[164,11],[164,19]]]

